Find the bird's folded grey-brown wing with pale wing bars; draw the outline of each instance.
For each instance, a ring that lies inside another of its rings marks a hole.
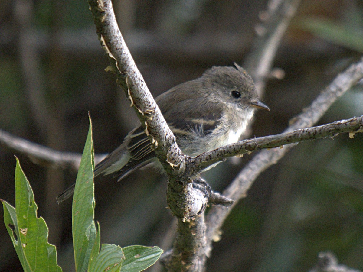
[[[182,142],[195,142],[197,137],[203,138],[216,128],[222,116],[219,103],[209,103],[207,95],[201,95],[203,82],[200,79],[181,83],[156,98],[160,110],[175,134],[182,151]],[[202,92],[204,94],[204,92]],[[132,131],[125,139],[128,140],[127,151],[130,160],[114,174],[121,180],[132,171],[148,164],[156,157],[152,144],[140,126]],[[198,143],[195,143],[198,146]],[[197,152],[192,148],[190,154]]]

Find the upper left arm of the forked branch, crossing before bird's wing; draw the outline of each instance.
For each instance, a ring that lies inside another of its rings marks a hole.
[[[183,165],[184,154],[176,145],[173,133],[132,59],[118,28],[112,3],[110,0],[89,0],[88,3],[99,40],[111,63],[106,70],[116,74],[118,84],[125,91],[146,135],[154,144],[158,159],[166,172],[172,174],[174,166],[179,168]]]

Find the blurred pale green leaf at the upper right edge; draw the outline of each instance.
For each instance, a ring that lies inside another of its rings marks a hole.
[[[363,31],[361,28],[322,18],[307,18],[299,21],[298,25],[303,30],[309,31],[323,40],[363,52]]]

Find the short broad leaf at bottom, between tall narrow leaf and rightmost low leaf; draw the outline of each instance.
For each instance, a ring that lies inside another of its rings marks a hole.
[[[90,265],[88,271],[120,271],[123,259],[125,257],[123,256],[121,247],[114,244],[102,244],[101,251],[96,259],[92,261],[92,265]]]

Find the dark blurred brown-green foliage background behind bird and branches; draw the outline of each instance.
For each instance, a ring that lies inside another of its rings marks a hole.
[[[136,115],[108,65],[86,1],[3,0],[0,9],[0,128],[60,151],[81,153],[93,119],[96,153],[116,148]],[[267,1],[115,0],[119,26],[156,96],[213,65],[242,63]],[[282,39],[252,136],[280,133],[331,80],[363,53],[361,0],[303,0]],[[362,85],[348,91],[319,124],[363,114]],[[71,202],[55,197],[72,169],[34,164],[0,146],[0,197],[15,203],[15,158],[49,226],[58,264],[73,271]],[[253,156],[253,155],[251,155]],[[222,191],[251,156],[205,173]],[[140,170],[122,182],[96,179],[95,219],[102,243],[170,248],[175,221],[166,209],[166,178]],[[3,214],[0,214],[3,222]],[[21,270],[0,223],[0,271]],[[208,271],[308,271],[320,251],[363,269],[363,136],[299,144],[266,170],[232,211],[214,244]],[[72,261],[70,261],[72,260]],[[158,268],[155,266],[152,269]]]

